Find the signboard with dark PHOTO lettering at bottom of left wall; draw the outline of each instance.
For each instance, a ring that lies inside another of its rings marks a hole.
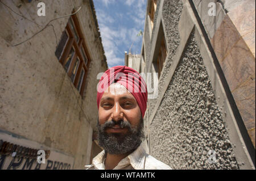
[[[69,170],[73,163],[72,155],[0,130],[1,170]]]

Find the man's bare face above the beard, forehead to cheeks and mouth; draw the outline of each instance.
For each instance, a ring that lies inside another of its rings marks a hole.
[[[99,124],[105,124],[106,121],[128,121],[131,127],[137,127],[141,120],[141,110],[134,96],[127,91],[126,87],[119,83],[113,83],[106,89],[102,95],[98,110]],[[126,128],[120,128],[114,125],[113,128],[106,129],[107,133],[127,132]]]

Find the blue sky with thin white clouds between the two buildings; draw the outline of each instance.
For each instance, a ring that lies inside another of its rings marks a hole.
[[[125,51],[141,54],[146,0],[94,0],[109,68],[125,64]]]

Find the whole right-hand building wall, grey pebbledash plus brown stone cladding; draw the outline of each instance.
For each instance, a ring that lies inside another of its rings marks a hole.
[[[172,169],[255,169],[255,1],[154,2],[140,72],[157,70],[163,36],[167,57],[144,117],[150,154]]]

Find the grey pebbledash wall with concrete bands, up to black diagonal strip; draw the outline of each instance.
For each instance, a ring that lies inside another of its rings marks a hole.
[[[144,118],[150,154],[173,169],[253,168],[241,133],[232,123],[235,120],[229,116],[232,111],[223,106],[229,104],[228,99],[187,1],[158,1],[152,36],[146,19],[143,45],[147,69],[154,71],[160,21],[168,54],[159,78],[159,97],[148,100]],[[211,23],[218,23],[217,17]],[[209,150],[216,151],[216,164],[209,163]]]

